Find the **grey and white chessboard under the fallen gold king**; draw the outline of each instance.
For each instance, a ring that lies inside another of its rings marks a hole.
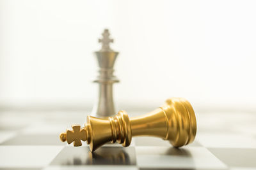
[[[1,111],[0,169],[256,169],[256,113],[195,112],[198,131],[188,146],[141,137],[126,148],[107,144],[90,152],[86,143],[59,139],[70,125],[84,124],[86,111]]]

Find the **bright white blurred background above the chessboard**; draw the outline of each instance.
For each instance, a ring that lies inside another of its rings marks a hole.
[[[256,1],[0,1],[0,108],[86,109],[107,28],[116,110],[256,109]]]

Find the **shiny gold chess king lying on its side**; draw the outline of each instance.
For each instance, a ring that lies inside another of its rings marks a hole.
[[[87,141],[92,152],[108,142],[129,146],[134,136],[154,136],[180,147],[195,139],[196,117],[186,99],[173,97],[143,116],[130,119],[125,111],[108,118],[88,116],[82,129],[80,125],[72,125],[72,129],[60,134],[61,141],[74,142],[74,146],[81,146],[81,140]]]

